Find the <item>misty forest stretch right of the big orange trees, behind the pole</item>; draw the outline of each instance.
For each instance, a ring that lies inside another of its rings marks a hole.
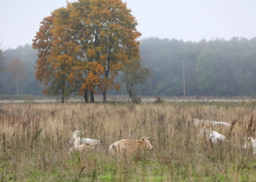
[[[155,77],[139,88],[144,95],[251,95],[256,91],[256,37],[230,40],[144,39],[142,63]]]

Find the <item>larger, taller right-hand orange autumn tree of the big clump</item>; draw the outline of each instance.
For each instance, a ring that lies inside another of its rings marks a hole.
[[[56,24],[68,29],[62,29],[62,35],[71,39],[72,46],[79,46],[82,67],[75,69],[84,70],[80,93],[101,92],[106,103],[108,90],[120,90],[114,79],[125,63],[140,60],[137,21],[121,0],[78,0],[67,3],[66,9],[69,19],[63,21],[59,15]]]

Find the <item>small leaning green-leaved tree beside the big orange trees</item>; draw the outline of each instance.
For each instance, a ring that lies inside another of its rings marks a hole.
[[[144,83],[147,78],[152,77],[148,68],[141,68],[140,61],[131,61],[126,63],[123,82],[126,85],[126,90],[135,104],[140,104],[141,99],[138,97],[136,90],[133,88],[138,83]]]

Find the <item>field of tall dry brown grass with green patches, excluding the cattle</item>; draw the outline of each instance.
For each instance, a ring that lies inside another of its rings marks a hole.
[[[256,159],[242,150],[255,138],[254,102],[163,104],[0,104],[2,181],[256,181]],[[211,145],[188,119],[235,122],[211,126],[228,141]],[[17,124],[19,123],[19,124]],[[67,153],[69,131],[99,139],[102,150]],[[4,133],[4,135],[3,135]],[[153,151],[122,160],[109,155],[120,139],[149,139]]]

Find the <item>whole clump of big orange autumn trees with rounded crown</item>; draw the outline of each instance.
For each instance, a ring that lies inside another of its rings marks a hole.
[[[108,90],[120,90],[114,79],[125,63],[140,59],[136,26],[121,0],[78,0],[45,17],[33,39],[36,78],[44,81],[45,93],[62,90],[64,102],[67,90],[79,88],[79,94],[101,92],[106,102]]]

